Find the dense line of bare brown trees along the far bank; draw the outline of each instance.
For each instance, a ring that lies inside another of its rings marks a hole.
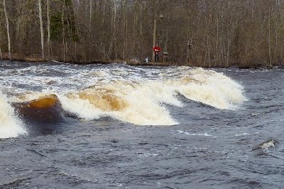
[[[158,42],[171,62],[202,67],[283,62],[281,0],[0,1],[0,54],[12,59],[142,60]]]

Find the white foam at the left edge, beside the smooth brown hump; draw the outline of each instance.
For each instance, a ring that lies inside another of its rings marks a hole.
[[[23,124],[16,117],[6,97],[0,93],[0,138],[18,137],[26,134]]]

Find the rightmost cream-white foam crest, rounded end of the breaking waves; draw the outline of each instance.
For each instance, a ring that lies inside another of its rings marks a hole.
[[[222,73],[194,69],[188,74],[192,81],[181,82],[177,91],[192,101],[231,110],[246,101],[244,88]]]

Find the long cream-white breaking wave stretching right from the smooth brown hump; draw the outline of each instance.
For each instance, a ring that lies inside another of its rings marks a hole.
[[[78,118],[96,120],[110,117],[135,125],[179,124],[170,116],[166,106],[182,108],[179,95],[214,108],[230,110],[246,101],[243,87],[217,71],[179,67],[152,71],[148,73],[149,76],[158,76],[146,78],[128,76],[131,71],[132,75],[139,72],[117,69],[86,71],[74,76],[73,81],[71,78],[65,81],[77,84],[81,79],[82,86],[87,83],[83,89],[28,91],[21,98],[13,97],[13,101],[31,101],[55,93],[62,108]]]

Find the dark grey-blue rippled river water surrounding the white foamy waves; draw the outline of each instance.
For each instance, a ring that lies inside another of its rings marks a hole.
[[[58,78],[55,89],[80,90],[84,87],[76,82],[60,83],[68,76],[74,78],[74,70],[80,73],[78,82],[91,69],[126,70],[119,79],[137,82],[168,70],[82,67],[1,62],[1,91],[12,101],[20,92],[45,90],[46,82],[41,82],[46,78],[47,82]],[[138,73],[136,78],[128,76],[131,71]],[[26,125],[28,134],[0,140],[0,188],[284,188],[284,71],[214,71],[243,86],[248,101],[237,108],[216,108],[179,94],[176,98],[183,107],[160,105],[168,108],[178,125],[137,124],[111,114],[86,120],[76,113],[64,116],[48,133],[32,131],[43,123]],[[174,70],[171,77],[178,77],[177,73]],[[106,82],[116,79],[113,74]],[[38,85],[29,84],[31,80]],[[148,106],[144,109],[151,112]],[[268,139],[278,143],[258,148]]]

